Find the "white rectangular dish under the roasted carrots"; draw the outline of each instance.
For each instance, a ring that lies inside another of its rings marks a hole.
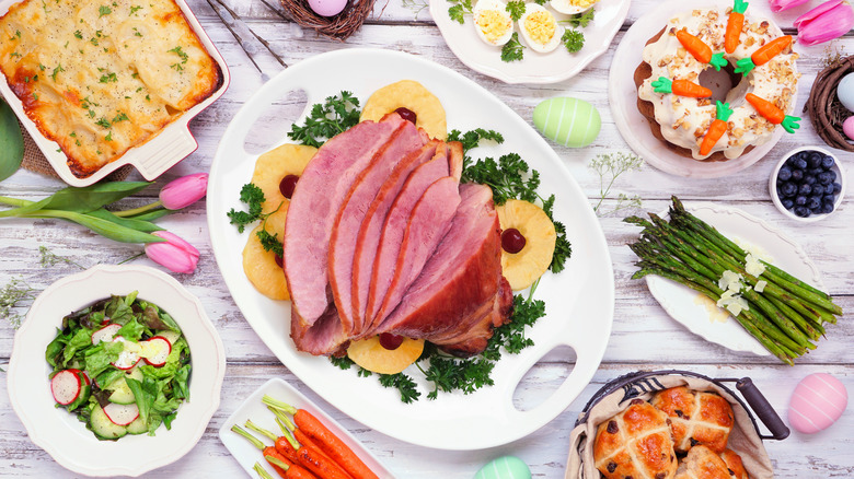
[[[241,437],[238,433],[231,431],[231,427],[236,424],[244,430],[244,424],[247,420],[252,420],[253,423],[266,429],[267,431],[278,431],[278,425],[275,422],[275,416],[267,409],[267,407],[261,401],[265,395],[269,395],[276,400],[287,402],[297,409],[304,409],[311,412],[312,416],[318,418],[323,425],[330,429],[338,439],[341,439],[357,456],[365,463],[368,468],[373,471],[380,479],[394,478],[385,466],[380,463],[370,451],[368,451],[349,431],[344,429],[337,421],[332,419],[330,414],[320,409],[314,402],[302,395],[293,386],[285,382],[279,377],[274,377],[261,387],[255,389],[241,405],[240,407],[229,416],[229,419],[222,423],[219,428],[219,440],[229,449],[234,459],[240,463],[243,470],[252,477],[255,477],[255,470],[252,468],[255,463],[261,463],[268,472],[272,467],[261,456],[261,451],[253,446],[247,440]],[[266,437],[261,437],[254,432],[252,433],[258,440],[266,445],[270,445],[270,441]],[[275,472],[270,472],[273,477],[276,477]]]

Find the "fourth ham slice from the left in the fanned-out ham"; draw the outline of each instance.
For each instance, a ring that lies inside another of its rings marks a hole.
[[[385,218],[379,248],[373,261],[368,303],[365,309],[367,318],[365,322],[366,331],[373,329],[383,319],[378,314],[394,278],[397,255],[401,252],[403,235],[406,232],[406,223],[412,215],[412,209],[430,185],[437,179],[448,176],[449,173],[447,154],[437,152],[432,160],[412,172],[409,177],[406,178],[401,192],[394,199]]]

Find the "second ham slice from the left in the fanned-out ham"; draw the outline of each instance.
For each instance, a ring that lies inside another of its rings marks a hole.
[[[371,163],[353,183],[335,217],[330,237],[328,278],[332,297],[347,334],[354,329],[353,264],[360,226],[377,194],[399,162],[405,161],[409,153],[419,151],[423,145],[424,141],[415,125],[409,121],[404,124],[377,151]]]

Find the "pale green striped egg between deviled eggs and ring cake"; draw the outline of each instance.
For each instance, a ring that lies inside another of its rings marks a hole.
[[[545,138],[572,148],[590,144],[602,127],[599,110],[593,105],[565,96],[536,105],[533,121]]]

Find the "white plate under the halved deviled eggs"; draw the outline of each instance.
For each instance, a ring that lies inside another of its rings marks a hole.
[[[465,16],[465,23],[459,24],[448,15],[448,9],[454,3],[448,0],[430,2],[430,16],[439,27],[448,47],[472,70],[501,80],[505,83],[556,83],[569,79],[585,69],[591,61],[608,51],[611,40],[623,26],[628,14],[630,0],[600,0],[593,8],[596,17],[586,28],[585,46],[569,54],[566,48],[557,46],[550,54],[538,54],[524,50],[521,61],[501,61],[501,49],[483,43],[472,25],[471,15]],[[557,20],[568,15],[556,13]],[[517,28],[518,30],[518,28]]]

